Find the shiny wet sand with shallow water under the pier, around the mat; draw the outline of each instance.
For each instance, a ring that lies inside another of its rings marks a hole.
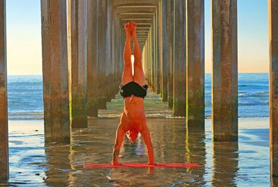
[[[43,120],[10,120],[10,180],[0,186],[270,186],[268,117],[240,118],[238,143],[213,143],[210,119],[205,131],[186,132],[186,120],[172,118],[167,104],[154,98],[145,102],[156,163],[201,167],[83,168],[111,163],[121,101],[117,96],[102,117],[90,118],[87,129],[73,129],[70,145],[44,145]],[[147,162],[140,137],[124,139],[120,162]]]

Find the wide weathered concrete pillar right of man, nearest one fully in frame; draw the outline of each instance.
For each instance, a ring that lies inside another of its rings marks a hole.
[[[212,1],[213,140],[238,140],[237,1]]]

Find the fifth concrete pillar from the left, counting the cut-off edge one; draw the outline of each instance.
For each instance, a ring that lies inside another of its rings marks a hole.
[[[106,31],[107,31],[107,13],[106,13],[106,0],[97,0],[98,10],[97,10],[97,61],[99,68],[99,108],[106,109]]]

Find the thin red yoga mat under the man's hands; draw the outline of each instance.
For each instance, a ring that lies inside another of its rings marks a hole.
[[[112,165],[111,163],[85,163],[84,168],[188,168],[199,167],[197,163],[156,163],[155,165],[147,165],[146,163],[122,163],[122,165]]]

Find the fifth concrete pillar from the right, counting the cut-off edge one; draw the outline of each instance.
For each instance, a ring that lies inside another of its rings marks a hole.
[[[173,108],[173,64],[174,64],[174,1],[167,0],[167,38],[168,38],[168,108]]]

